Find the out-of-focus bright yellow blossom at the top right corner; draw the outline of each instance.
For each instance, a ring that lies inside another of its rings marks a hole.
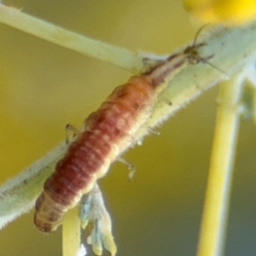
[[[203,22],[237,25],[256,19],[256,0],[184,0],[184,4]]]

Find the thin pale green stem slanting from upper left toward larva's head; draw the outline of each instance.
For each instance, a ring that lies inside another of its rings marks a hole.
[[[0,22],[51,43],[72,49],[80,54],[108,61],[131,73],[136,73],[143,67],[141,57],[128,49],[87,38],[75,32],[69,32],[60,26],[55,26],[32,15],[26,15],[19,9],[1,3]]]

